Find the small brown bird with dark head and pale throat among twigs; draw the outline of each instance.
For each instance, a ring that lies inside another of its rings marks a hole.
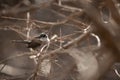
[[[14,40],[17,43],[24,43],[27,45],[27,48],[32,48],[35,50],[38,47],[43,47],[44,45],[49,44],[50,39],[46,33],[41,33],[39,36],[34,37],[32,40]]]

